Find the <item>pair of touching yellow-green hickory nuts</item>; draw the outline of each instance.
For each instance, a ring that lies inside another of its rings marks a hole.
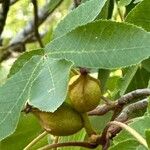
[[[65,102],[53,113],[32,108],[41,126],[50,134],[67,136],[85,127],[83,115],[97,107],[101,90],[98,79],[88,73],[71,77]]]

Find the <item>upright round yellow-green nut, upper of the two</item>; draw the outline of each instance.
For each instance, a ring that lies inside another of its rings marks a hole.
[[[98,79],[89,74],[75,75],[69,82],[69,97],[78,112],[93,110],[100,102],[101,90]]]

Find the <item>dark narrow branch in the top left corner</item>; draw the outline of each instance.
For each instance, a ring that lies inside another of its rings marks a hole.
[[[4,0],[2,2],[2,12],[0,13],[0,41],[6,23],[7,14],[9,11],[9,5],[10,5],[10,0]],[[2,43],[0,43],[0,45],[2,45]]]

